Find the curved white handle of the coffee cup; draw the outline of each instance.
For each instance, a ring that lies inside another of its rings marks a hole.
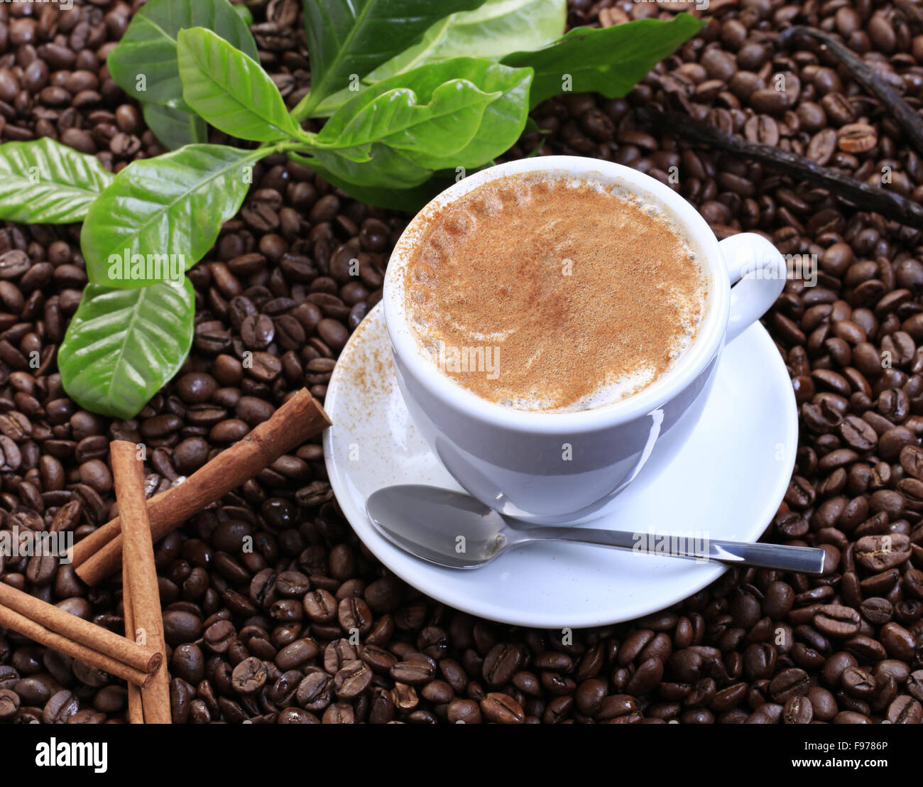
[[[725,255],[727,272],[734,285],[731,287],[727,343],[759,320],[782,295],[786,268],[779,249],[756,233],[744,232],[725,237],[718,245]]]

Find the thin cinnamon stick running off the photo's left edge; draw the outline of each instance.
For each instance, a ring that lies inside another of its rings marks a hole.
[[[0,582],[0,605],[27,618],[43,629],[52,631],[66,639],[73,640],[79,646],[95,650],[131,667],[138,674],[147,675],[154,672],[162,663],[162,656],[153,648],[148,648],[124,636],[118,636],[101,625],[91,624],[70,612],[55,607],[42,599],[36,599],[22,590]],[[15,629],[19,631],[19,629]],[[30,636],[19,631],[19,634]],[[106,672],[111,672],[106,670]],[[119,674],[114,672],[113,674]],[[119,675],[124,677],[124,675]]]

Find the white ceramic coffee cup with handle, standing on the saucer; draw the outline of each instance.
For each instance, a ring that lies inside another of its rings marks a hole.
[[[616,191],[637,195],[677,226],[709,280],[694,343],[648,387],[611,405],[547,413],[489,402],[426,357],[407,319],[407,262],[433,212],[499,177],[536,173],[602,180]],[[701,416],[722,348],[773,305],[785,274],[782,255],[766,238],[743,233],[719,243],[689,202],[653,177],[597,159],[545,156],[482,170],[432,200],[398,240],[382,300],[404,401],[462,488],[504,515],[577,524],[605,515],[642,469],[645,475],[656,473],[676,455]]]

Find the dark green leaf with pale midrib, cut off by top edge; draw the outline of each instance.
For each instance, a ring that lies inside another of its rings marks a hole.
[[[417,41],[438,19],[485,0],[306,0],[311,91],[294,108],[304,120],[330,93],[349,87]]]

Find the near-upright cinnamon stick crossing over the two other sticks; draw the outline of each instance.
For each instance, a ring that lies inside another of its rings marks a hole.
[[[154,566],[154,542],[150,537],[148,506],[144,499],[144,473],[138,458],[138,447],[133,442],[116,440],[109,445],[115,482],[115,500],[118,501],[119,519],[125,557],[124,573],[128,580],[129,617],[132,635],[143,631],[147,640],[159,653],[166,653],[163,639],[161,593],[157,587],[157,569]],[[141,708],[149,724],[169,724],[170,677],[166,660],[154,673],[150,684],[141,687]]]

